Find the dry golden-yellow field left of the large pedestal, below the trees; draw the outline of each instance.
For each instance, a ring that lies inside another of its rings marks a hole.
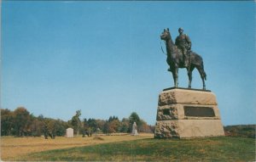
[[[94,137],[56,137],[44,139],[44,137],[1,137],[1,159],[4,161],[19,160],[26,154],[42,152],[52,149],[73,148],[90,146],[106,142],[131,141],[154,137],[153,134],[140,134],[140,136],[100,136]]]

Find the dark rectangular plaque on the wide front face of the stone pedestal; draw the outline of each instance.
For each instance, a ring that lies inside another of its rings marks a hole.
[[[214,110],[211,107],[184,106],[185,116],[193,117],[214,117]]]

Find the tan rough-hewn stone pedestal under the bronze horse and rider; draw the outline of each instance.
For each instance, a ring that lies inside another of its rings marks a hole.
[[[154,137],[218,136],[224,136],[224,128],[212,92],[170,88],[160,93]]]

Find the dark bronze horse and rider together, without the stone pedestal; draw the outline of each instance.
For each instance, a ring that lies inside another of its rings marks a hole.
[[[178,87],[178,68],[186,68],[189,75],[189,88],[191,88],[192,71],[196,68],[200,75],[203,83],[203,90],[206,90],[207,74],[204,70],[203,59],[197,53],[190,50],[191,42],[189,36],[183,34],[183,29],[178,29],[179,36],[176,38],[176,42],[172,42],[172,37],[169,29],[164,29],[160,39],[166,42],[166,62],[170,68],[168,71],[172,72],[174,87]]]

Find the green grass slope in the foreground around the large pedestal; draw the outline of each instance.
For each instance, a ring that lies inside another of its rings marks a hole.
[[[143,139],[27,154],[22,161],[255,161],[255,140],[240,137]]]

